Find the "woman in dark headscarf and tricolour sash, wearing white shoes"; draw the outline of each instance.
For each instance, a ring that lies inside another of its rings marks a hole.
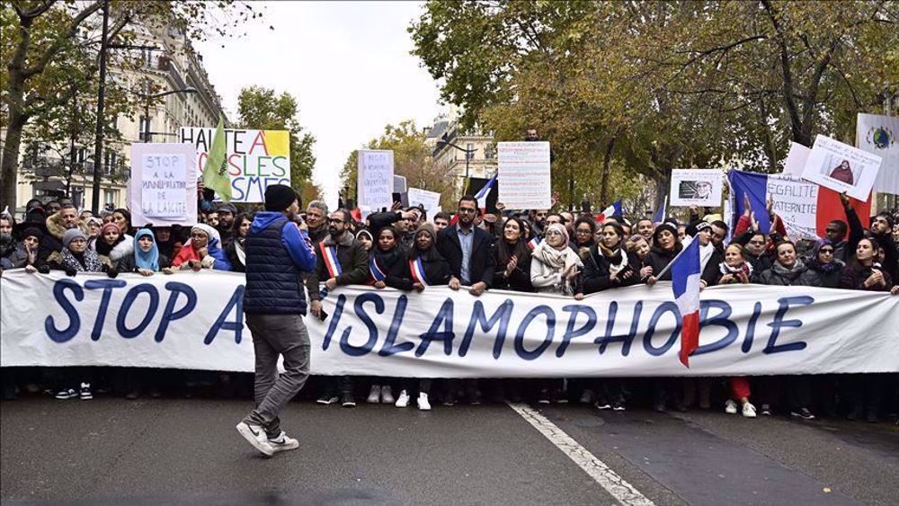
[[[412,248],[406,256],[406,271],[404,280],[411,281],[411,289],[423,292],[427,287],[441,287],[449,283],[449,263],[437,251],[437,231],[431,223],[423,223],[415,230]],[[431,378],[418,380],[418,409],[431,410]],[[396,407],[405,408],[409,405],[412,390],[411,380],[406,383],[399,396],[396,398]]]

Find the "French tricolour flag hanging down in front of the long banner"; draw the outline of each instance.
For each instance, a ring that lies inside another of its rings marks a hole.
[[[690,353],[699,348],[699,241],[690,244],[671,263],[674,302],[681,311],[681,364],[690,367]]]

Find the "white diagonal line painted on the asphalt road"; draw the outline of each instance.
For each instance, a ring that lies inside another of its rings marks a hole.
[[[565,434],[565,431],[550,422],[547,417],[540,414],[537,410],[531,409],[528,404],[509,403],[509,406],[521,415],[521,418],[530,423],[534,429],[543,434],[549,442],[556,445],[556,448],[562,450],[565,457],[568,457],[583,469],[583,472],[590,475],[593,480],[600,484],[606,492],[617,499],[621,504],[627,506],[654,506],[654,503],[645,495],[640,493],[634,485],[628,484],[621,476],[612,471],[599,458],[590,453],[587,448],[583,448],[580,443],[575,441],[571,436]]]

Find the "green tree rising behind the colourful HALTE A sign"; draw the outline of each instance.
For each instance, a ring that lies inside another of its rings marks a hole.
[[[237,114],[243,129],[289,130],[290,185],[302,194],[316,165],[316,156],[312,154],[316,138],[299,126],[297,99],[287,92],[275,94],[269,88],[250,86],[237,97]]]

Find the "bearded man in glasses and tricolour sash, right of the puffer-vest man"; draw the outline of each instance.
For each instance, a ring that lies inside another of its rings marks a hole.
[[[309,209],[312,209],[310,206]],[[327,315],[322,310],[322,297],[337,287],[364,285],[369,280],[369,252],[350,232],[350,211],[337,209],[328,217],[328,235],[316,248],[316,269],[306,279],[306,289],[311,301],[312,315],[324,320]],[[324,280],[324,283],[321,281]],[[324,290],[319,284],[324,285]],[[354,407],[352,378],[348,376],[328,377],[325,392],[318,397],[318,404],[334,404]]]

